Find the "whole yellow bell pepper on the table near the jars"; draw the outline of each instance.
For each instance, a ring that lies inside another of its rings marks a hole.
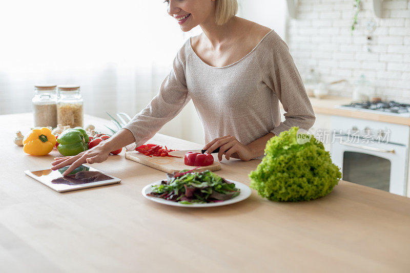
[[[24,138],[23,151],[33,156],[45,156],[53,150],[55,143],[55,136],[50,129],[34,129]]]

